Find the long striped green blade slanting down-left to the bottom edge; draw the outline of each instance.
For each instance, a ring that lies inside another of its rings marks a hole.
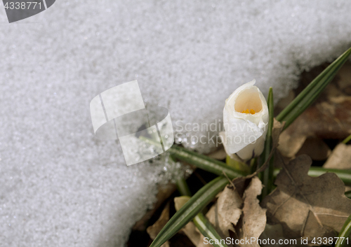
[[[192,198],[177,211],[161,232],[154,239],[150,247],[159,247],[171,239],[180,229],[190,222],[214,197],[225,188],[229,181],[220,176],[204,185]]]

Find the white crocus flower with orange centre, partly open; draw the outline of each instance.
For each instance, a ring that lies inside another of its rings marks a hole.
[[[236,153],[242,160],[249,160],[263,152],[269,119],[267,101],[255,80],[241,85],[225,101],[220,132],[227,155]]]

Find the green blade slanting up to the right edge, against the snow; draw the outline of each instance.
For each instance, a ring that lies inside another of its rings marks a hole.
[[[322,73],[319,74],[307,87],[300,92],[298,96],[291,101],[291,103],[284,108],[284,110],[277,115],[277,120],[286,124],[284,129],[291,125],[291,123],[298,118],[298,116],[310,106],[315,99],[319,97],[324,88],[333,80],[338,70],[345,64],[347,58],[351,54],[351,48],[346,50],[343,55],[340,55],[332,64],[330,64]]]

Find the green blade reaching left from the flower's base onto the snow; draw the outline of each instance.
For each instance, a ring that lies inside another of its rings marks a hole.
[[[209,171],[213,174],[217,174],[218,176],[221,176],[223,173],[225,173],[228,178],[234,179],[240,176],[248,175],[244,171],[237,171],[224,162],[214,160],[210,157],[207,157],[206,155],[201,155],[179,146],[173,146],[168,150],[172,153],[173,157],[176,157],[178,160],[193,164],[196,167],[204,169],[205,171]]]

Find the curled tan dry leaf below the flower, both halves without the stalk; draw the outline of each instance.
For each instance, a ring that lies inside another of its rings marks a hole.
[[[234,187],[228,185],[206,214],[208,221],[223,239],[233,237],[233,234],[237,239],[258,238],[266,224],[266,209],[260,207],[257,199],[262,183],[257,176],[246,180],[234,179],[232,183]],[[198,246],[203,244],[200,242]]]

